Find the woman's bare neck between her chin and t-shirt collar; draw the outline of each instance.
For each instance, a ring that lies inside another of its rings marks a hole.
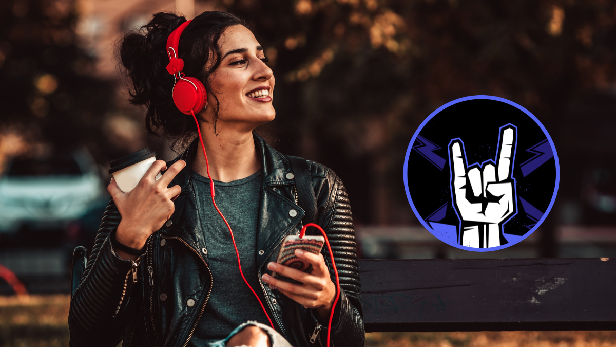
[[[231,182],[254,174],[261,169],[257,157],[252,130],[237,130],[217,124],[218,135],[211,123],[200,122],[203,146],[208,154],[209,174],[213,180]],[[198,141],[197,153],[193,158],[192,169],[201,176],[208,177],[208,169]]]

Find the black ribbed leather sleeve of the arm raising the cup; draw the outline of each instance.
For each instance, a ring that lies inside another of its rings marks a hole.
[[[129,278],[133,262],[121,259],[108,237],[120,219],[120,212],[110,200],[81,283],[71,299],[68,326],[75,347],[116,346],[122,340],[126,303],[134,286],[140,283]]]

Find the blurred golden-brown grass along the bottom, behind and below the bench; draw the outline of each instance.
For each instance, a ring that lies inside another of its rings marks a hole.
[[[67,347],[68,295],[0,296],[0,347]],[[616,347],[616,332],[367,333],[365,347]]]

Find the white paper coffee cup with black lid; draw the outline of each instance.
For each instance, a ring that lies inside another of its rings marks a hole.
[[[113,179],[120,190],[124,193],[128,193],[137,186],[137,183],[144,177],[145,172],[150,169],[150,166],[156,161],[156,152],[150,151],[150,148],[144,148],[128,156],[121,157],[111,162],[111,169],[109,174],[113,176]],[[161,178],[162,174],[159,172],[155,179]]]

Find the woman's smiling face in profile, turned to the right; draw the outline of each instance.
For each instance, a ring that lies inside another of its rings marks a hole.
[[[263,48],[243,25],[227,28],[219,42],[221,64],[210,75],[211,92],[219,102],[217,128],[252,130],[276,116],[274,74],[265,62]],[[216,99],[208,96],[206,115],[213,116]]]

